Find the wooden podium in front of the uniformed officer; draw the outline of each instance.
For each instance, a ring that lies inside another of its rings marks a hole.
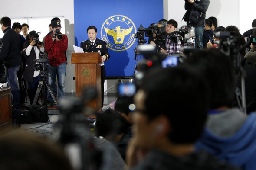
[[[98,52],[72,53],[71,56],[71,64],[75,64],[76,97],[82,96],[85,87],[96,87],[98,91],[97,98],[87,103],[87,106],[95,110],[102,107],[101,62],[101,56]]]

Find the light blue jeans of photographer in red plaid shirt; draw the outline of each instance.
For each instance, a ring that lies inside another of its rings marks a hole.
[[[50,87],[55,91],[55,83],[56,83],[56,76],[58,80],[58,96],[59,100],[65,99],[65,76],[66,76],[66,62],[58,65],[58,66],[51,66],[49,65],[49,83]],[[53,102],[53,98],[51,94],[47,93],[47,100],[49,102]]]

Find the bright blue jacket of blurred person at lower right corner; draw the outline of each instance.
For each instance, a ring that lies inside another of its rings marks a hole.
[[[256,169],[256,114],[251,113],[235,135],[221,138],[205,129],[196,149],[211,154],[243,170]]]

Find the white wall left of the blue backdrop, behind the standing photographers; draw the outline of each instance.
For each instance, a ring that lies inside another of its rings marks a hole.
[[[10,18],[22,17],[59,17],[65,18],[65,34],[68,36],[69,45],[66,51],[68,65],[65,78],[66,92],[75,92],[75,64],[70,64],[72,45],[75,44],[74,36],[74,1],[73,0],[1,0],[0,18],[8,16]],[[12,22],[13,23],[13,22]],[[23,23],[20,23],[23,24]],[[42,25],[48,30],[48,25]],[[63,27],[63,25],[62,25]],[[40,35],[45,36],[45,35]]]

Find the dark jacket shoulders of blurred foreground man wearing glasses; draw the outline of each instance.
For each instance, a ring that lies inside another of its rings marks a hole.
[[[205,151],[176,157],[160,150],[151,150],[144,161],[131,170],[239,170],[217,160]]]

